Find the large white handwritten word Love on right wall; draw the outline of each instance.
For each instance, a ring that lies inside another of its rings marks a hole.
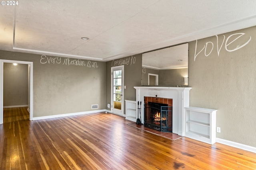
[[[236,51],[238,49],[241,49],[242,47],[246,46],[252,39],[252,37],[246,37],[245,39],[243,39],[243,43],[241,45],[236,46],[234,49],[229,49],[228,46],[231,45],[232,43],[234,43],[235,41],[238,41],[238,39],[242,39],[243,36],[245,35],[245,33],[234,33],[230,36],[227,37],[227,39],[225,39],[225,35],[223,35],[223,40],[221,42],[221,45],[219,47],[219,39],[218,39],[218,35],[216,36],[216,50],[218,53],[218,56],[220,55],[220,50],[222,49],[222,46],[224,45],[225,42],[225,49],[228,52],[232,52],[232,51]],[[197,40],[196,40],[196,47],[195,47],[195,55],[194,55],[194,61],[196,61],[196,57],[198,56],[198,54],[200,54],[203,50],[204,50],[204,55],[205,57],[209,56],[212,53],[212,50],[214,49],[214,43],[211,41],[208,41],[207,43],[205,43],[204,47],[199,51],[197,49]],[[199,51],[199,52],[197,52]],[[208,53],[206,51],[209,51]]]

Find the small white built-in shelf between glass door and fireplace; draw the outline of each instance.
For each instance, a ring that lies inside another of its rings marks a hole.
[[[136,101],[125,100],[125,109],[126,119],[136,122]]]

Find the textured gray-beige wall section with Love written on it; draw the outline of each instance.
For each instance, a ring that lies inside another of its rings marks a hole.
[[[218,109],[217,138],[252,147],[256,147],[255,45],[256,27],[218,35],[218,41],[213,36],[189,43],[190,106]]]

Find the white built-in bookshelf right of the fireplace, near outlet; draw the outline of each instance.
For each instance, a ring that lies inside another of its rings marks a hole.
[[[216,111],[200,107],[184,107],[185,137],[209,144],[216,142]]]

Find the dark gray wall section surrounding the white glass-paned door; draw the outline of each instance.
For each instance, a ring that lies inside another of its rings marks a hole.
[[[129,62],[124,63],[120,61]],[[124,89],[124,100],[136,100],[136,89],[134,86],[141,86],[142,54],[106,62],[106,109],[108,109],[107,104],[111,104],[111,67],[120,65],[124,65],[124,85],[126,86],[126,89]]]

